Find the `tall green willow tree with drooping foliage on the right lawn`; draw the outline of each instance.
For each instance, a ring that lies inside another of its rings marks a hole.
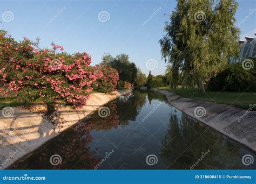
[[[204,93],[204,83],[238,55],[237,8],[235,0],[177,0],[159,41],[162,57],[172,67],[171,88],[197,84]]]

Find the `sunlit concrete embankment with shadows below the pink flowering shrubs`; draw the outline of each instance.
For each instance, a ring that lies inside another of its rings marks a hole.
[[[12,108],[12,117],[2,116],[0,111],[0,169],[32,152],[60,132],[76,124],[80,119],[92,114],[100,106],[114,98],[130,93],[131,90],[114,91],[113,94],[95,93],[87,104],[79,110],[68,107],[58,111],[58,123],[53,125],[43,118],[42,113],[30,112],[21,107]],[[111,113],[111,112],[110,112]]]

